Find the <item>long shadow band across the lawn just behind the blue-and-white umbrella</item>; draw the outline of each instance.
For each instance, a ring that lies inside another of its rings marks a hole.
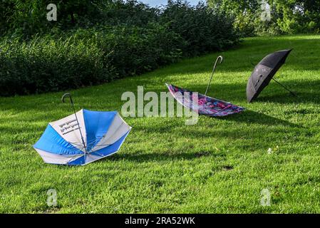
[[[145,81],[147,83],[147,81]],[[176,84],[174,82],[169,82],[174,84],[175,86],[179,86],[182,88],[186,88],[187,90],[197,91],[198,93],[204,93],[206,85],[194,85],[194,86],[184,86]],[[246,108],[249,104],[246,103],[246,83],[247,81],[243,81],[242,83],[215,83],[212,82],[212,86],[209,90],[208,95],[217,98],[220,100],[229,101],[236,105],[240,105],[239,103],[245,103],[243,106]],[[283,90],[275,83],[270,83],[270,85],[265,88],[262,93],[259,95],[257,100],[254,103],[259,102],[270,102],[270,103],[279,103],[279,104],[290,104],[290,103],[320,103],[320,80],[319,81],[284,81],[285,86],[288,88],[295,88],[294,91],[299,96],[298,98],[290,95],[286,90]],[[86,88],[81,91],[76,91],[74,93],[74,97],[76,98],[76,109],[80,110],[81,107],[86,109],[101,110],[111,110],[117,109],[120,110],[121,104],[125,103],[125,101],[121,101],[121,95],[125,91],[132,91],[133,93],[137,93],[137,86],[145,86],[143,83],[135,82],[131,83],[128,86],[123,86],[121,89],[115,89],[112,92],[110,90],[98,90],[98,92],[91,90],[90,88]],[[155,93],[160,94],[160,92],[167,92],[167,88],[163,83],[162,87],[160,85],[155,85],[158,87],[157,89],[145,89],[145,93],[148,91],[154,91]],[[160,87],[160,89],[159,89]],[[62,94],[62,93],[61,93]],[[78,97],[77,97],[78,95]],[[70,115],[71,108],[69,104],[61,103],[60,94],[48,94],[46,96],[41,95],[41,97],[36,98],[33,96],[31,98],[23,97],[19,100],[19,103],[15,102],[16,98],[7,98],[3,100],[1,103],[0,110],[12,110],[14,113],[23,112],[23,111],[36,111],[36,115],[41,115],[39,119],[44,116],[51,116],[52,111],[59,110],[59,113],[64,112],[66,115]],[[36,100],[36,104],[33,103],[33,100]],[[247,105],[246,105],[247,104]],[[44,111],[46,110],[46,112]],[[42,114],[41,114],[42,113]],[[36,118],[36,117],[34,117]]]

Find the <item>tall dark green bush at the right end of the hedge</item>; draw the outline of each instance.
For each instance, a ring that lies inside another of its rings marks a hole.
[[[160,21],[185,39],[186,56],[222,50],[239,41],[233,19],[203,3],[190,6],[185,1],[168,1]]]

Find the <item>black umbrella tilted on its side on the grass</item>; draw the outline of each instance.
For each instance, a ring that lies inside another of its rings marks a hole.
[[[258,95],[261,93],[261,91],[266,86],[268,86],[271,80],[274,80],[280,86],[282,86],[282,84],[276,81],[273,78],[273,76],[275,73],[277,73],[279,68],[284,64],[291,50],[292,49],[288,49],[288,50],[276,51],[274,53],[271,53],[266,57],[264,57],[262,61],[260,61],[257,64],[257,66],[254,67],[254,71],[252,71],[252,74],[247,83],[248,102],[252,102],[252,100],[257,98]],[[284,86],[282,87],[288,90],[286,87]],[[295,95],[290,90],[288,91],[291,94]]]

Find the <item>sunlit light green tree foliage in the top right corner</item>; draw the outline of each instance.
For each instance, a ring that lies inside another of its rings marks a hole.
[[[233,15],[243,36],[263,33],[319,33],[320,0],[207,0],[213,8]],[[262,8],[269,4],[271,19],[263,21]]]

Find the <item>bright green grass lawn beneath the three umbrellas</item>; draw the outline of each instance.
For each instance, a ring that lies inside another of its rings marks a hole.
[[[256,102],[247,78],[267,53],[294,48]],[[72,90],[76,108],[121,110],[121,94],[167,91],[165,83],[247,108],[226,118],[125,118],[120,151],[83,167],[45,164],[32,145],[48,122],[71,114],[61,93],[0,98],[0,212],[320,212],[320,36],[246,38],[239,48],[191,58],[143,76]],[[272,148],[272,153],[268,149]],[[46,192],[57,192],[48,207]],[[269,190],[271,205],[260,204]]]

